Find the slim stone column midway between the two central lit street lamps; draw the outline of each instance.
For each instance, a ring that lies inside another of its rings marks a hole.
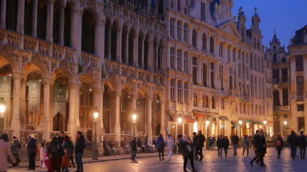
[[[121,141],[121,125],[120,125],[120,98],[122,93],[115,92],[115,127],[114,127],[114,134],[116,134],[116,141],[120,143]]]

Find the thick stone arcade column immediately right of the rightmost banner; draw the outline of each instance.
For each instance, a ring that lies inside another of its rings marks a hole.
[[[79,98],[78,90],[79,85],[76,83],[70,83],[68,85],[69,91],[69,118],[68,118],[68,131],[71,133],[72,140],[75,140],[77,132],[76,120],[78,118]]]

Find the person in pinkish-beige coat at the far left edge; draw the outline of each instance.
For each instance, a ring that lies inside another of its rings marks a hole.
[[[8,134],[2,134],[0,136],[0,171],[7,171],[8,169],[8,157],[14,162],[16,162],[9,143]]]

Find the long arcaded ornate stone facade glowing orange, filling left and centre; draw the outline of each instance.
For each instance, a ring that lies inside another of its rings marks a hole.
[[[0,92],[11,136],[80,130],[92,139],[96,110],[97,140],[118,144],[133,133],[190,136],[207,127],[252,135],[265,120],[272,133],[272,70],[257,9],[247,29],[232,0],[1,5]]]

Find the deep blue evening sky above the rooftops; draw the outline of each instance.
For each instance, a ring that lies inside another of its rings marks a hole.
[[[269,47],[276,28],[276,35],[281,45],[286,47],[295,31],[307,25],[307,0],[234,0],[232,13],[238,16],[238,9],[243,7],[247,19],[247,29],[251,26],[251,17],[257,7],[261,19],[263,44]]]

